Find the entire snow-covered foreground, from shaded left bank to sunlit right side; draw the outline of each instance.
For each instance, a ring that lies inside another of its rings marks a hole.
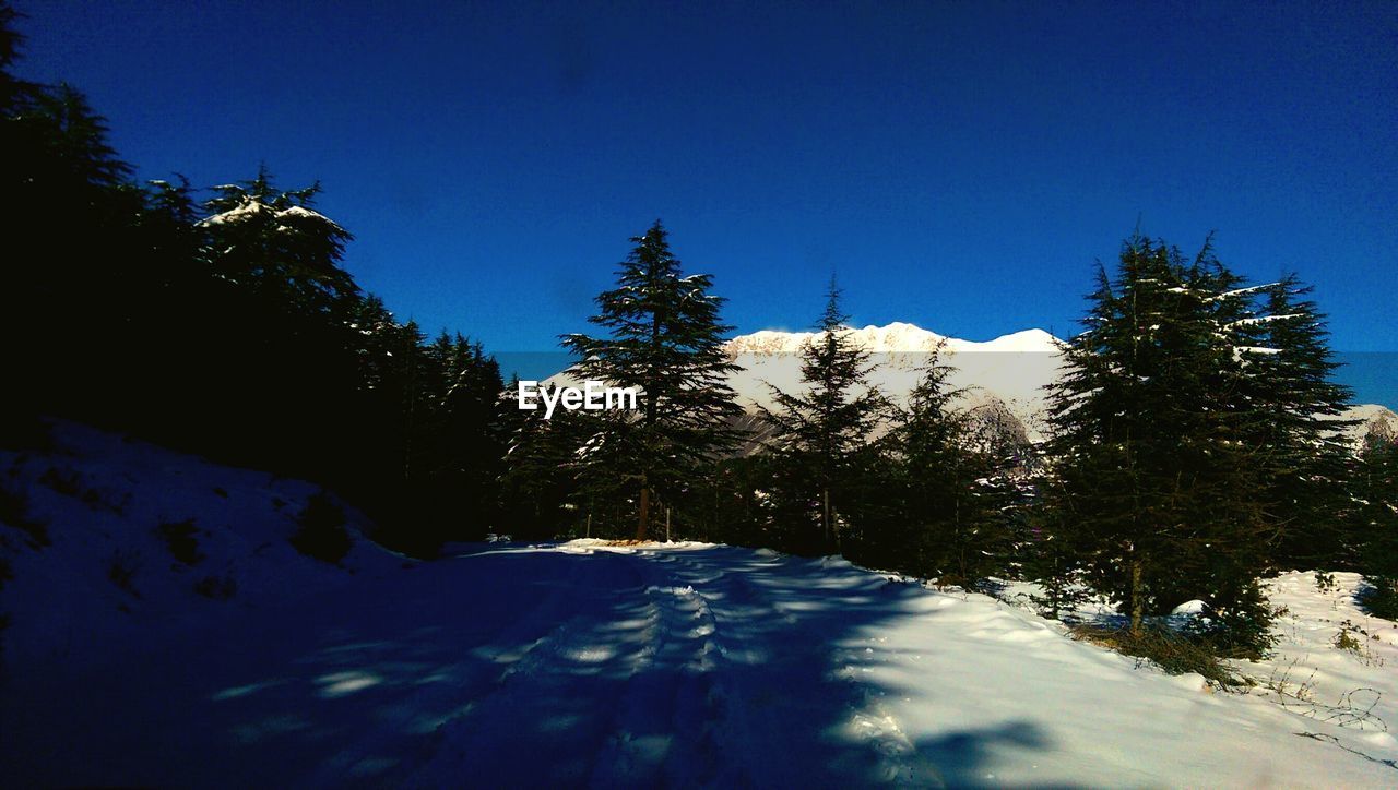
[[[0,452],[0,784],[1398,783],[1398,627],[1352,574],[1268,583],[1281,641],[1237,694],[1022,585],[695,543],[421,564],[351,508],[329,562],[292,546],[308,483],[52,434]]]

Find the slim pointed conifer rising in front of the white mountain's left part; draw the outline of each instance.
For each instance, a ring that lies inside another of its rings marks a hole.
[[[816,336],[801,349],[804,394],[770,387],[774,409],[762,415],[772,426],[776,455],[786,465],[787,486],[798,502],[815,507],[823,553],[840,550],[840,498],[856,487],[860,461],[888,402],[870,385],[868,350],[847,334],[849,317],[840,310],[840,289],[830,278],[825,313]],[[800,540],[809,544],[809,542]]]

